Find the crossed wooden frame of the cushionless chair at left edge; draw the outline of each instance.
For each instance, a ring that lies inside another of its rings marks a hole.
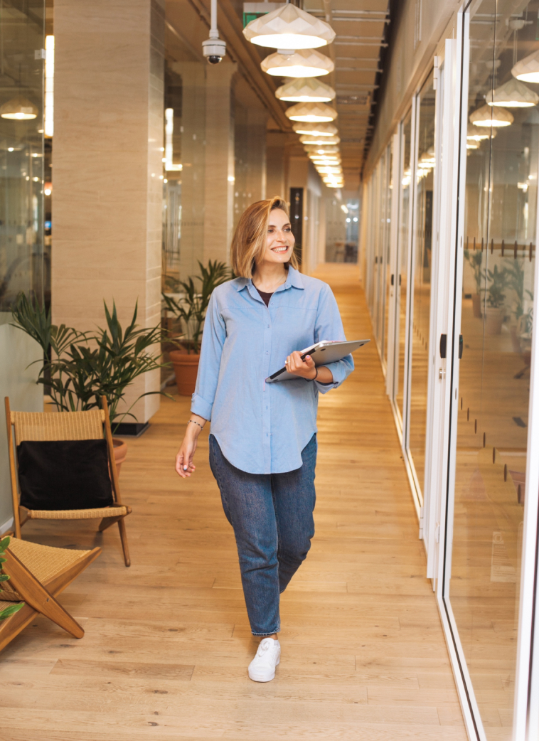
[[[41,547],[46,551],[47,546]],[[4,565],[6,573],[10,575],[10,580],[7,583],[22,597],[24,605],[19,612],[0,620],[0,651],[19,635],[38,613],[56,622],[56,625],[64,628],[74,638],[82,638],[85,631],[55,598],[99,556],[101,551],[101,548],[86,551],[81,558],[65,566],[61,571],[42,583],[36,579],[36,576],[24,565],[22,560],[10,548],[7,548]],[[0,590],[0,600],[1,597],[2,591]]]

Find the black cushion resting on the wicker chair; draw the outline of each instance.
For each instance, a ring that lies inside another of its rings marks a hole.
[[[17,459],[23,507],[66,510],[114,504],[106,440],[24,440]]]

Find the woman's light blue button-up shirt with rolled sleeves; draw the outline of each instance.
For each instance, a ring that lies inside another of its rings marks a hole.
[[[211,419],[223,455],[240,471],[301,467],[301,451],[317,431],[318,393],[343,383],[354,370],[352,356],[328,363],[331,384],[265,379],[291,352],[325,339],[346,339],[331,288],[294,268],[268,307],[251,279],[228,281],[212,293],[191,411]]]

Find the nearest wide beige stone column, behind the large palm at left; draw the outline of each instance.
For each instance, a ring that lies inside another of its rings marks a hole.
[[[164,0],[56,0],[53,321],[125,327],[161,313]],[[127,406],[159,390],[137,379]],[[146,422],[159,396],[133,408]],[[125,421],[128,421],[127,419]],[[133,420],[129,420],[133,421]]]

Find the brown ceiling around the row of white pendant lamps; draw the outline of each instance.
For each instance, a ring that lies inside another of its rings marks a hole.
[[[341,139],[345,189],[357,190],[370,139],[369,119],[380,79],[380,52],[386,46],[388,0],[302,0],[300,5],[331,24],[337,33],[332,44],[318,51],[335,64],[335,71],[323,81],[337,93],[334,107],[339,115],[335,124]],[[210,0],[167,0],[169,48],[173,47],[173,36],[181,36],[193,54],[202,59],[199,50],[210,25],[209,6]],[[272,50],[245,41],[242,6],[242,0],[219,0],[219,33],[227,42],[224,62],[239,62],[240,74],[271,116],[269,128],[288,133],[292,150],[302,154],[299,138],[291,135],[291,122],[285,116],[288,104],[275,98],[275,90],[284,81],[266,75],[259,66]]]

